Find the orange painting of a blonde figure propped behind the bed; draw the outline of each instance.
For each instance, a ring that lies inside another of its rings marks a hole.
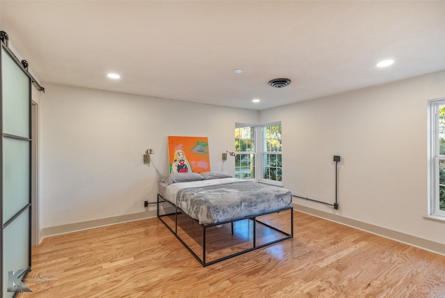
[[[170,173],[210,171],[207,136],[168,136]]]

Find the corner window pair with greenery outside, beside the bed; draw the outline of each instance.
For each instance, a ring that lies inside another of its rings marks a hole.
[[[235,127],[235,177],[282,182],[281,123]]]

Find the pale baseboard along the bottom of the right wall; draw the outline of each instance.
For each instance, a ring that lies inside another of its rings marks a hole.
[[[390,230],[389,228],[382,228],[380,226],[374,226],[373,224],[366,224],[362,221],[357,221],[355,219],[348,219],[347,217],[342,217],[337,214],[332,214],[329,212],[324,212],[321,210],[316,210],[311,207],[306,207],[293,203],[295,210],[304,212],[315,217],[320,217],[322,219],[327,219],[329,221],[334,221],[345,226],[350,226],[351,228],[357,228],[358,230],[364,230],[375,235],[379,235],[397,242],[402,242],[409,244],[411,246],[416,246],[419,249],[425,249],[426,251],[431,251],[433,253],[438,253],[439,255],[445,256],[445,244],[434,242],[431,240],[426,240],[421,237],[416,237],[413,235],[397,232],[395,230]],[[297,232],[298,233],[298,232]]]

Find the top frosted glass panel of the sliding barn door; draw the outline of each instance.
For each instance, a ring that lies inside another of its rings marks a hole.
[[[1,86],[3,88],[3,133],[30,137],[29,77],[17,66],[5,49],[1,49]]]

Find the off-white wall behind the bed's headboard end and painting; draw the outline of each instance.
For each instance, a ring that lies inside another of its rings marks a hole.
[[[213,171],[234,173],[236,122],[258,111],[43,84],[42,228],[145,212],[168,175],[167,137],[208,136]],[[155,151],[143,164],[147,148]]]

